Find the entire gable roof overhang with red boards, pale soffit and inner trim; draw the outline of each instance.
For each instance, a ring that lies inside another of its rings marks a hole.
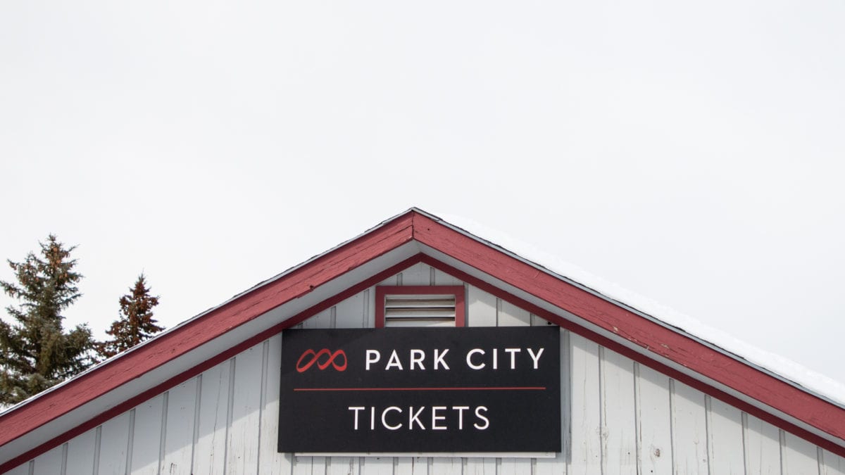
[[[411,209],[0,414],[0,472],[423,262],[845,456],[845,408]]]

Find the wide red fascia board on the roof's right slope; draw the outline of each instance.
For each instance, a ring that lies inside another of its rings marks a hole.
[[[430,215],[414,216],[414,239],[585,319],[661,358],[733,388],[838,440],[845,410],[709,342],[528,261]],[[728,371],[726,368],[730,367]],[[845,448],[843,448],[845,449]]]

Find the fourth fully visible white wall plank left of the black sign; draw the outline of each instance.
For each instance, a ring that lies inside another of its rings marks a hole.
[[[155,475],[161,448],[161,414],[164,395],[155,396],[135,407],[132,436],[132,473]]]

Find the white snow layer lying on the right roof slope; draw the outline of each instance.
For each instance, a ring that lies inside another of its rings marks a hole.
[[[750,345],[749,343],[739,340],[735,336],[728,334],[725,331],[712,328],[700,320],[682,314],[673,308],[669,308],[661,303],[657,303],[650,298],[643,297],[636,292],[631,292],[624,287],[606,281],[599,276],[581,269],[577,265],[572,265],[560,259],[557,256],[548,254],[542,249],[538,249],[531,244],[524,243],[518,239],[512,238],[507,232],[486,227],[477,221],[464,218],[461,216],[454,216],[450,214],[434,215],[454,227],[459,227],[466,232],[470,232],[477,238],[481,238],[488,243],[492,243],[499,248],[504,248],[512,254],[520,256],[522,259],[532,261],[534,264],[540,265],[559,276],[564,276],[571,281],[575,281],[584,287],[589,287],[591,290],[602,294],[603,296],[613,299],[619,303],[635,308],[643,314],[649,315],[651,318],[661,321],[664,324],[671,325],[684,332],[695,336],[696,338],[711,343],[716,347],[733,353],[733,355],[743,358],[746,361],[753,363],[761,368],[765,368],[774,374],[788,379],[793,383],[801,385],[806,390],[815,392],[819,396],[826,397],[826,399],[845,406],[845,385],[835,379],[831,379],[824,374],[816,373],[811,369],[804,368],[799,363],[795,363],[788,358],[783,358],[780,355],[766,352],[758,347]]]

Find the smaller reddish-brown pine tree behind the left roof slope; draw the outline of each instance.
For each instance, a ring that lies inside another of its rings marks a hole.
[[[155,325],[152,308],[158,305],[159,297],[150,295],[144,274],[138,277],[134,287],[129,287],[129,290],[132,293],[120,298],[120,318],[106,330],[112,339],[97,343],[97,352],[103,358],[111,358],[164,330]]]

